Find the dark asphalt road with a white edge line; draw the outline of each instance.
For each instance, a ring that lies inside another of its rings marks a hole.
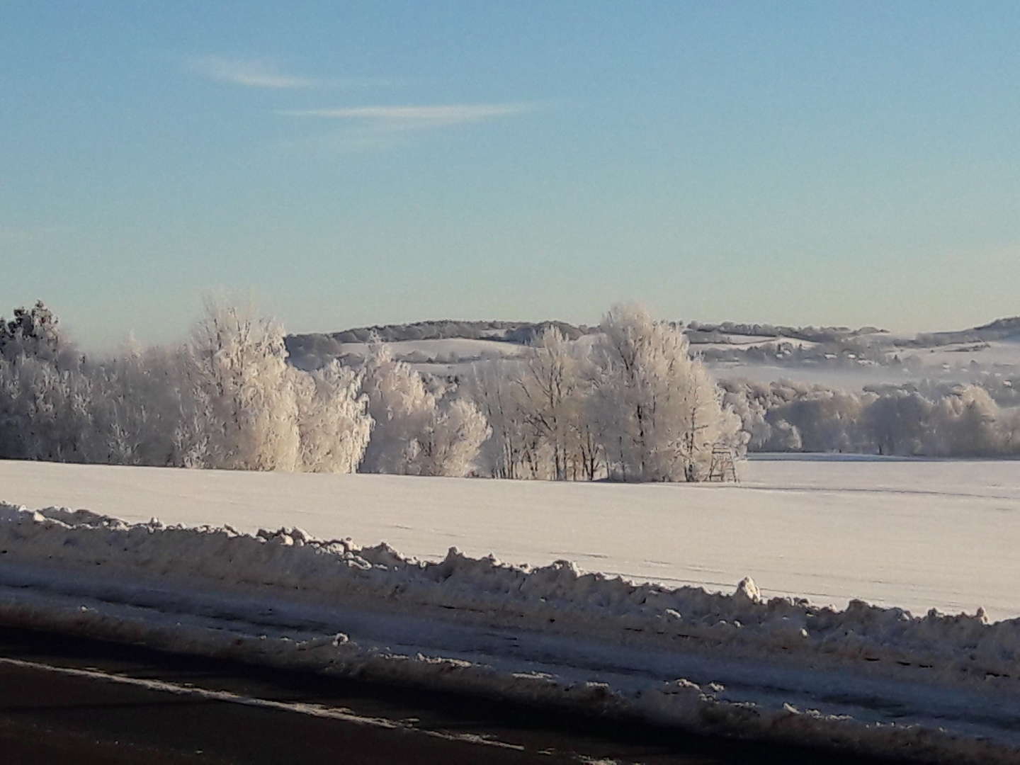
[[[864,762],[18,629],[0,657],[6,765]]]

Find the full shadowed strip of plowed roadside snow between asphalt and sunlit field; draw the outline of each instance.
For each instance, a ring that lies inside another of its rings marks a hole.
[[[1020,758],[1020,620],[0,505],[0,620],[920,760]]]

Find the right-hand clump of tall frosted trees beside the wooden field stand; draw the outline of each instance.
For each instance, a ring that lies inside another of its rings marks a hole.
[[[600,328],[589,345],[551,327],[523,361],[476,369],[491,474],[701,480],[714,446],[743,449],[740,417],[680,328],[636,306],[614,307]]]

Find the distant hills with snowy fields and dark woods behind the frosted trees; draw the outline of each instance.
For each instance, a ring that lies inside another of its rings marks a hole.
[[[682,322],[680,322],[682,323]],[[356,358],[372,339],[394,344],[397,358],[429,371],[456,372],[465,362],[512,356],[549,326],[570,340],[598,333],[598,326],[564,321],[466,321],[441,319],[409,324],[357,327],[336,333],[291,335],[292,363],[310,368],[332,358]],[[902,375],[970,379],[978,371],[1020,370],[1020,317],[1001,318],[981,326],[916,335],[874,326],[785,326],[769,323],[691,321],[685,334],[692,349],[720,370],[735,374],[744,366],[783,369],[808,379],[801,367],[825,381],[826,372],[861,372],[872,377]],[[509,344],[510,348],[502,347]],[[972,364],[973,362],[973,364]],[[975,366],[977,368],[975,368]],[[877,368],[876,368],[877,367]],[[884,368],[885,371],[881,371]],[[766,374],[769,372],[766,372]],[[761,370],[752,371],[755,378]],[[778,378],[778,376],[774,377]],[[875,381],[872,379],[871,381]]]

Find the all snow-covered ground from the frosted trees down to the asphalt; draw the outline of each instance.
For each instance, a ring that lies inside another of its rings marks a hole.
[[[0,622],[1015,762],[1020,619],[974,611],[1020,613],[1018,465],[775,457],[740,486],[619,486],[0,462],[0,499],[103,514],[0,504]]]

